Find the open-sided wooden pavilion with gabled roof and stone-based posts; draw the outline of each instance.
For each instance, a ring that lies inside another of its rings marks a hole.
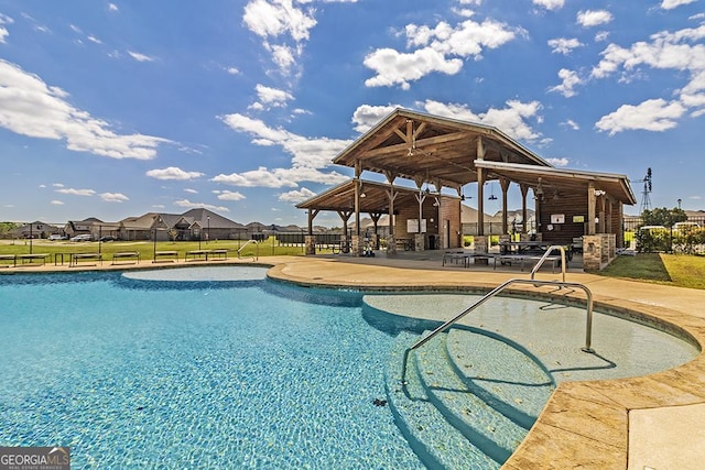
[[[411,240],[415,250],[462,245],[460,204],[464,186],[475,183],[479,215],[476,252],[487,252],[484,233],[486,184],[501,188],[502,232],[508,239],[507,195],[519,186],[524,226],[519,237],[567,244],[583,239],[586,269],[607,264],[622,247],[622,206],[636,204],[623,175],[555,168],[500,130],[456,119],[397,109],[338,154],[335,164],[355,170],[351,181],[297,205],[308,212],[308,232],[321,210],[335,210],[347,227],[355,216],[351,252],[361,253],[360,214],[377,222],[389,218],[387,250],[397,239]],[[382,175],[387,183],[361,178],[364,172]],[[395,185],[406,179],[411,187]],[[432,189],[433,188],[433,189]],[[525,227],[529,189],[536,212],[536,232]],[[496,198],[494,193],[492,198]],[[346,230],[347,233],[347,230]],[[315,252],[313,241],[307,253]]]

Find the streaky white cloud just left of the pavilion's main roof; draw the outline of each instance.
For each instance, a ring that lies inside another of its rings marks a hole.
[[[304,138],[282,128],[271,128],[259,119],[243,114],[226,114],[219,117],[230,129],[252,136],[252,143],[262,146],[281,146],[292,155],[291,168],[265,168],[220,174],[212,181],[234,186],[296,187],[300,182],[308,181],[324,184],[337,184],[345,176],[321,170],[333,164],[333,157],[350,144],[349,140],[328,138]]]

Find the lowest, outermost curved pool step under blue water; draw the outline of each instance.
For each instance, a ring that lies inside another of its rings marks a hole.
[[[468,440],[447,422],[429,400],[419,374],[414,354],[409,358],[405,392],[401,386],[404,350],[417,338],[402,332],[389,358],[386,374],[389,406],[402,435],[421,461],[432,469],[499,469],[500,463]]]

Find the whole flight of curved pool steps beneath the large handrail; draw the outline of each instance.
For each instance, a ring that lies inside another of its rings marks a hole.
[[[409,356],[404,393],[403,354],[417,339],[400,334],[387,368],[402,434],[429,468],[499,468],[547,402],[551,375],[506,339],[453,328]]]

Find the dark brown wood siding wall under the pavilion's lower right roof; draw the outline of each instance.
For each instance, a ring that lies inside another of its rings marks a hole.
[[[574,238],[583,237],[587,231],[587,194],[558,194],[558,198],[553,198],[553,193],[546,190],[541,201],[539,210],[539,231],[544,241],[560,244],[571,243]],[[549,230],[551,215],[562,214],[565,216],[564,223],[553,223],[553,230]],[[574,216],[583,216],[585,222],[573,222]]]

